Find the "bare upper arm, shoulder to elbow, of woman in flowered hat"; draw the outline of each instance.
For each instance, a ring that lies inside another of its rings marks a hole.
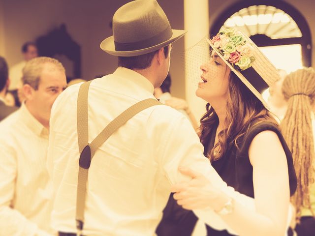
[[[289,175],[278,135],[269,130],[256,135],[249,157],[257,212],[271,219],[277,232],[285,232],[290,201]]]

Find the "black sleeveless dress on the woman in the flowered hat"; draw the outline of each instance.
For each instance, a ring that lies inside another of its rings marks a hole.
[[[205,156],[207,156],[208,151],[214,147],[216,129],[217,128],[214,128],[209,134],[208,144],[205,145],[204,150]],[[230,147],[219,160],[213,161],[211,164],[228,186],[232,186],[235,191],[253,198],[254,190],[252,183],[252,165],[249,159],[248,151],[252,143],[252,139],[257,134],[265,130],[274,131],[281,141],[287,159],[290,195],[293,195],[296,190],[297,179],[293,166],[292,155],[279,128],[269,121],[262,121],[257,124],[253,124],[248,132],[239,139],[239,149],[236,148],[235,145]],[[206,227],[207,235],[209,236],[230,236],[230,234],[225,230],[217,231],[209,226]]]

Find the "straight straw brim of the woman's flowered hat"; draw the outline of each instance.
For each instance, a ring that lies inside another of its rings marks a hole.
[[[230,62],[228,62],[226,59],[223,58],[219,50],[212,44],[212,42],[207,39],[209,45],[217,52],[218,56],[227,64],[227,66],[237,75],[237,77],[243,82],[243,84],[246,85],[248,89],[251,90],[251,92],[261,101],[261,103],[264,105],[264,107],[270,111],[270,108],[268,106],[268,103],[263,99],[262,95],[252,86],[252,84],[242,75],[240,71],[235,69]]]

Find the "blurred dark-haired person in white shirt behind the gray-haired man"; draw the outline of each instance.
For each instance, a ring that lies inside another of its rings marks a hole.
[[[23,44],[21,51],[24,60],[13,65],[9,70],[9,78],[11,81],[9,91],[13,94],[17,106],[20,106],[21,102],[25,99],[22,92],[22,70],[26,65],[26,62],[38,57],[37,46],[33,42],[26,42]]]

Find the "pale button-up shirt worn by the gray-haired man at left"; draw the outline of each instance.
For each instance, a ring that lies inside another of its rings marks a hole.
[[[25,104],[0,122],[0,236],[53,232],[48,136]]]

